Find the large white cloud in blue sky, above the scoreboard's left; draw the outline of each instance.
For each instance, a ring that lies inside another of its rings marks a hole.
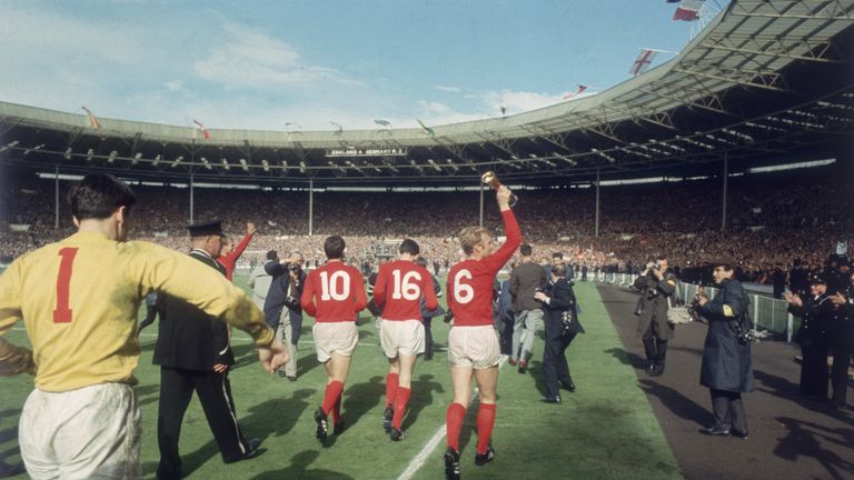
[[[227,24],[229,40],[193,63],[197,76],[227,88],[310,86],[318,81],[361,84],[328,67],[305,63],[297,50],[266,33]]]

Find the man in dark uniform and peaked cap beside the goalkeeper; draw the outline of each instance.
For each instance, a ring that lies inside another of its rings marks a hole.
[[[192,243],[190,257],[225,276],[225,268],[216,260],[222,249],[221,222],[196,223],[188,229]],[[231,463],[254,457],[260,440],[246,440],[240,431],[228,381],[228,369],[235,363],[228,326],[175,297],[165,294],[158,302],[160,333],[153,361],[160,366],[157,418],[160,464],[157,478],[181,478],[178,439],[193,391],[205,410],[222,461]]]

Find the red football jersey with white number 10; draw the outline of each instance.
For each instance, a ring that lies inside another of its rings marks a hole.
[[[368,304],[365,279],[355,267],[329,261],[308,272],[299,303],[318,322],[356,321]]]

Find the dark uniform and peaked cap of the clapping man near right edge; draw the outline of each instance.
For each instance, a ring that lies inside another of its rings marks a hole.
[[[815,279],[812,282],[824,280]],[[797,342],[801,343],[801,394],[817,400],[827,399],[827,352],[831,348],[827,329],[835,308],[827,293],[803,298],[803,306],[788,306],[788,312],[801,317]]]

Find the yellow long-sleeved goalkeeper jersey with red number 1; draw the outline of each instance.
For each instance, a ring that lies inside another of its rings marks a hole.
[[[153,243],[79,232],[17,259],[0,276],[0,334],[23,319],[36,388],[135,384],[137,310],[149,289],[182,298],[268,346],[272,330],[219,272]]]

